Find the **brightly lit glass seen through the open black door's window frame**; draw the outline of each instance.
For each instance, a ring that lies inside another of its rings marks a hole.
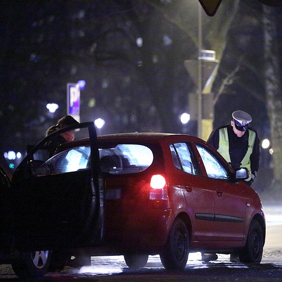
[[[33,167],[34,175],[48,175],[89,169],[90,146],[80,146],[64,150],[40,166]]]

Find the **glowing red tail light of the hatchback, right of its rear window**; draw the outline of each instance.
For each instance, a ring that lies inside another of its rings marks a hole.
[[[149,199],[155,200],[154,207],[170,207],[167,195],[167,183],[163,175],[156,174],[151,177]]]

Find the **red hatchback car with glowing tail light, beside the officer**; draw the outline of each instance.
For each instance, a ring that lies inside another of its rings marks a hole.
[[[160,254],[169,269],[184,268],[189,251],[261,261],[265,217],[257,193],[241,181],[245,169],[233,171],[206,142],[187,135],[116,134],[98,142],[112,254],[125,254],[135,267]]]

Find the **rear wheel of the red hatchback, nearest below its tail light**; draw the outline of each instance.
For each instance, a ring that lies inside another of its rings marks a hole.
[[[177,219],[170,230],[165,251],[160,254],[166,269],[184,269],[189,254],[189,234],[183,220]]]

